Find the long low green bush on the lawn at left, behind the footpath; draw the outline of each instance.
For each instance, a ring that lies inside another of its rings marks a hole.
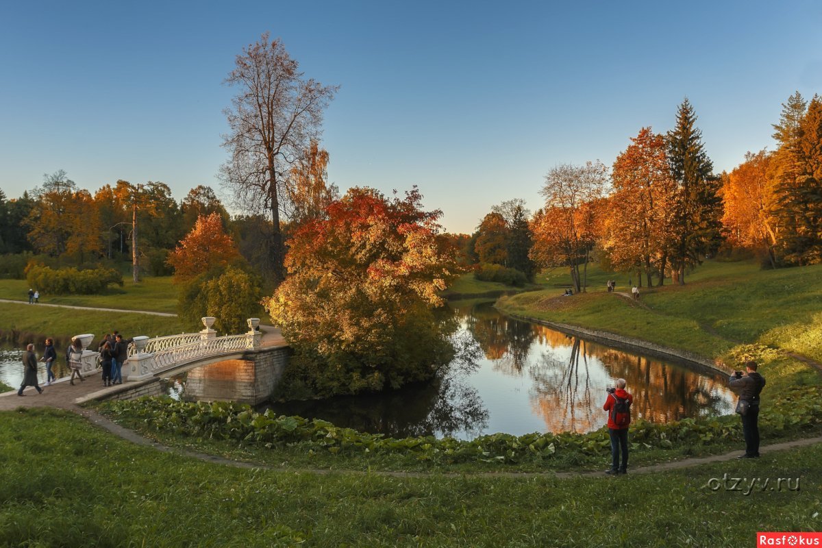
[[[122,274],[115,269],[98,267],[78,270],[52,269],[30,263],[25,268],[25,280],[31,288],[52,295],[96,295],[112,283],[122,287]]]

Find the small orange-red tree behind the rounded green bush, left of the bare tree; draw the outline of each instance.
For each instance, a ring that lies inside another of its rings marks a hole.
[[[223,229],[219,213],[197,219],[177,248],[169,253],[169,265],[178,280],[191,279],[215,267],[225,267],[239,258],[234,240]]]

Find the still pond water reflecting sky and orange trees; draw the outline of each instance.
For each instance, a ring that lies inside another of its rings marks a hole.
[[[653,422],[732,412],[726,377],[609,348],[501,315],[492,303],[457,306],[455,334],[464,357],[431,383],[386,394],[270,404],[285,415],[395,437],[451,435],[470,439],[506,432],[587,432],[606,423],[605,389],[627,380],[632,413]],[[42,348],[37,348],[38,355]],[[61,355],[58,348],[58,357]],[[0,380],[16,388],[22,351],[0,350]],[[62,362],[58,358],[58,362]],[[39,378],[45,368],[39,364]],[[65,373],[59,369],[58,376]],[[185,376],[169,380],[185,397]]]

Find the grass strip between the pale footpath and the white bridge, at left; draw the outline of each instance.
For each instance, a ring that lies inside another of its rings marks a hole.
[[[98,337],[117,329],[128,337],[182,333],[178,318],[128,312],[83,311],[50,306],[18,305],[0,302],[0,333],[12,342],[30,336],[66,340],[73,335],[91,333]]]

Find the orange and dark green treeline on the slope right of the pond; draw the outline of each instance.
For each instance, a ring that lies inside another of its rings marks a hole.
[[[822,98],[793,94],[774,124],[776,149],[749,152],[731,173],[714,173],[696,119],[685,99],[671,130],[642,127],[611,168],[552,168],[538,211],[508,200],[470,236],[452,236],[463,261],[478,278],[488,265],[529,279],[566,267],[576,291],[593,258],[640,287],[685,283],[717,254],[755,254],[767,268],[822,261]]]

